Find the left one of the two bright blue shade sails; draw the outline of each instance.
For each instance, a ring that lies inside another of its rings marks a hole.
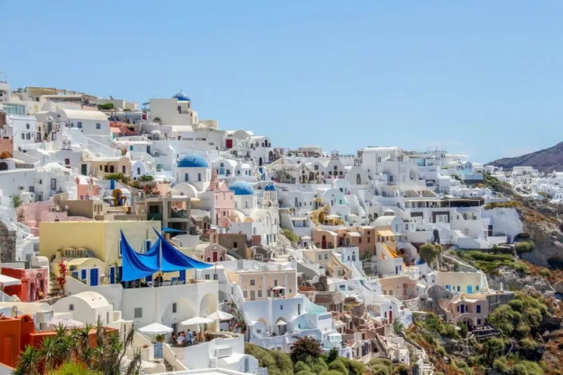
[[[122,276],[121,281],[133,281],[152,276],[158,272],[158,252],[153,248],[146,254],[139,254],[125,239],[121,231],[121,258]]]

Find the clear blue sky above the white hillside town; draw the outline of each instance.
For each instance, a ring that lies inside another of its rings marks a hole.
[[[563,1],[0,0],[0,71],[201,118],[274,146],[491,161],[563,141]]]

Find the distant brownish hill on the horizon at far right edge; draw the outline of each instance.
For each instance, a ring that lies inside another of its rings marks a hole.
[[[496,165],[505,169],[512,167],[534,167],[540,172],[557,172],[563,171],[563,142],[556,144],[550,148],[533,153],[526,153],[526,155],[517,156],[515,158],[502,158],[488,165]]]

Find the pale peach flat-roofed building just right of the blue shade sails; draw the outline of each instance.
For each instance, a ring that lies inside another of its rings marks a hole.
[[[227,277],[239,283],[245,300],[293,298],[297,293],[295,269],[227,272]]]

